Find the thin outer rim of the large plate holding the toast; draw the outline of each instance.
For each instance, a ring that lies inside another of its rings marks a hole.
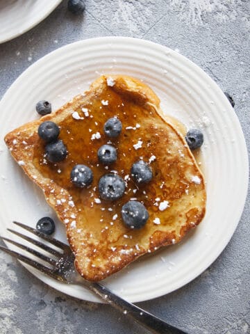
[[[22,72],[22,74],[19,75],[19,77],[12,83],[12,85],[8,88],[8,90],[6,90],[6,93],[4,93],[4,95],[3,95],[3,97],[0,101],[0,108],[1,108],[1,105],[5,102],[5,100],[8,100],[8,95],[9,94],[11,95],[11,91],[12,91],[12,89],[15,89],[15,85],[19,84],[19,80],[22,81],[23,77],[28,75],[30,71],[33,71],[33,67],[36,67],[37,65],[39,65],[40,62],[42,63],[42,61],[44,61],[44,58],[46,60],[46,58],[49,58],[50,56],[54,56],[57,52],[60,53],[60,51],[62,49],[67,49],[68,47],[69,48],[74,47],[74,45],[81,45],[81,44],[84,45],[86,43],[87,44],[88,43],[94,43],[94,45],[95,45],[95,44],[98,44],[98,42],[100,40],[101,40],[101,42],[103,42],[103,41],[115,42],[115,41],[122,41],[122,40],[124,40],[124,41],[127,40],[129,42],[129,41],[133,40],[133,41],[137,41],[138,43],[142,43],[142,45],[147,45],[148,47],[154,45],[155,47],[158,47],[159,49],[165,49],[167,51],[171,51],[175,55],[178,54],[176,51],[174,51],[174,50],[172,50],[168,47],[165,47],[164,45],[160,45],[156,42],[152,42],[152,41],[149,41],[149,40],[141,40],[139,38],[131,38],[131,37],[124,37],[124,36],[104,36],[104,37],[98,37],[98,38],[89,38],[89,39],[85,39],[85,40],[79,40],[77,42],[73,42],[73,43],[70,43],[68,45],[64,45],[63,47],[60,47],[56,50],[51,51],[49,54],[46,54],[45,56],[40,58],[38,61],[33,63],[31,66],[29,66],[26,70],[24,70],[24,72]],[[157,298],[159,296],[164,296],[165,294],[173,292],[178,288],[184,287],[186,284],[190,283],[190,281],[194,280],[194,278],[197,278],[199,275],[201,275],[201,273],[203,273],[203,271],[206,270],[217,259],[217,257],[219,257],[219,255],[221,255],[222,251],[224,250],[224,248],[226,247],[228,242],[231,240],[231,237],[233,236],[233,233],[235,232],[235,229],[237,228],[238,223],[240,222],[240,217],[242,216],[242,212],[244,210],[244,205],[245,205],[246,198],[247,198],[247,190],[248,190],[248,182],[249,182],[249,178],[248,178],[249,160],[248,160],[248,154],[247,154],[247,144],[246,144],[246,141],[245,141],[245,138],[244,138],[244,133],[242,131],[242,127],[240,125],[240,120],[238,119],[237,114],[233,110],[231,104],[228,102],[228,100],[227,100],[226,96],[224,95],[224,93],[222,92],[221,88],[219,88],[219,86],[215,83],[215,81],[206,72],[204,72],[201,69],[201,67],[199,67],[198,65],[196,65],[195,63],[190,61],[190,59],[188,59],[185,56],[180,55],[180,54],[178,54],[178,56],[181,56],[184,63],[188,62],[192,67],[194,67],[196,70],[198,70],[199,73],[201,73],[203,76],[206,77],[206,79],[208,79],[210,81],[210,84],[213,87],[216,88],[217,93],[220,92],[220,95],[224,98],[224,102],[226,102],[228,104],[228,106],[230,106],[231,111],[233,111],[233,113],[232,113],[233,118],[235,118],[235,121],[238,122],[238,128],[240,130],[239,136],[240,136],[240,141],[241,141],[241,145],[242,145],[242,150],[245,151],[245,154],[244,154],[244,172],[245,172],[246,182],[245,182],[244,196],[243,196],[244,197],[244,202],[242,202],[242,205],[239,209],[237,221],[235,220],[235,223],[231,226],[231,233],[228,234],[228,237],[226,239],[224,239],[224,242],[219,245],[220,246],[219,250],[217,250],[217,253],[215,254],[214,257],[210,258],[209,263],[206,262],[206,264],[203,264],[203,266],[199,267],[199,270],[194,271],[194,273],[192,273],[192,275],[188,276],[185,280],[183,280],[183,283],[181,283],[181,285],[176,284],[177,286],[174,287],[173,289],[171,289],[171,291],[168,291],[168,292],[165,292],[165,293],[163,292],[163,293],[160,293],[160,294],[153,294],[153,295],[148,293],[148,294],[146,294],[145,297],[142,296],[142,298],[140,298],[140,299],[137,298],[134,302],[146,301],[146,300],[149,300],[149,299]],[[242,161],[242,163],[243,163],[243,161]],[[42,276],[40,272],[36,273],[35,269],[31,269],[28,266],[24,266],[24,267],[26,267],[29,271],[31,271],[31,273],[33,273],[34,276],[38,277],[44,283],[47,283],[51,287],[53,287],[53,288],[55,288],[59,291],[62,291],[62,290],[60,290],[60,286],[58,286],[58,282],[53,281],[51,279],[47,279],[47,277]],[[55,284],[53,285],[53,283],[55,283]],[[75,293],[73,293],[73,292],[75,292]],[[69,294],[70,296],[74,296],[76,298],[79,298],[79,296],[77,296],[77,291],[74,291],[74,289],[73,289],[73,292],[70,291],[70,292],[65,292],[65,293]],[[83,298],[81,298],[81,299],[83,299]],[[93,301],[93,299],[88,299],[88,298],[84,298],[83,300]],[[94,298],[94,301],[99,302],[95,298]]]

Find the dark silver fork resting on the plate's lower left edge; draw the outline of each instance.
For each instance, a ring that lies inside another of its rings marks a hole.
[[[43,244],[38,240],[32,239],[31,237],[27,237],[22,233],[19,233],[15,230],[11,230],[8,228],[7,229],[8,231],[16,234],[18,237],[21,237],[22,239],[25,239],[26,241],[30,242],[33,245],[42,248],[47,253],[53,256],[48,257],[47,255],[44,255],[35,249],[19,244],[18,242],[8,239],[6,237],[2,237],[3,240],[8,241],[9,243],[19,248],[22,248],[23,250],[25,250],[28,253],[31,253],[32,255],[35,255],[35,257],[38,257],[43,262],[47,262],[47,264],[49,265],[41,264],[40,262],[31,260],[31,258],[19,254],[14,250],[10,250],[9,248],[0,246],[0,249],[3,250],[4,252],[14,257],[17,257],[18,260],[25,262],[31,267],[34,267],[35,269],[42,271],[42,273],[45,273],[51,278],[59,280],[62,283],[83,285],[83,287],[90,289],[90,291],[97,294],[101,299],[103,299],[103,301],[109,303],[114,308],[122,312],[124,315],[132,317],[140,325],[144,326],[149,331],[151,331],[151,333],[188,334],[181,331],[181,329],[178,329],[170,324],[167,324],[160,318],[151,315],[149,312],[142,310],[142,308],[138,308],[138,306],[135,306],[132,303],[129,303],[128,301],[125,301],[121,297],[111,292],[110,289],[108,289],[104,285],[84,280],[74,267],[74,255],[72,253],[72,250],[69,248],[69,246],[67,246],[63,242],[57,239],[53,239],[47,236],[46,234],[43,234],[42,232],[30,228],[29,226],[24,225],[22,223],[17,223],[16,221],[14,221],[13,223],[15,223],[15,225],[18,225],[21,228],[24,228],[24,230],[27,230],[28,232],[35,234],[41,239],[48,241],[51,245],[56,246],[58,249],[60,249],[60,251],[51,248],[50,246],[47,246],[46,244]]]

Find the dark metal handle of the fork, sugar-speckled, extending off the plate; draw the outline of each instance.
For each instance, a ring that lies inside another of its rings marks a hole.
[[[84,286],[86,287],[85,284]],[[161,320],[160,318],[151,315],[149,312],[142,310],[142,308],[138,308],[138,306],[135,306],[128,301],[125,301],[121,297],[111,292],[110,289],[104,287],[99,283],[89,283],[88,287],[92,292],[101,297],[103,301],[108,302],[110,305],[122,312],[124,315],[129,315],[139,324],[151,331],[151,333],[188,334],[181,331],[181,329],[167,324],[167,322]]]

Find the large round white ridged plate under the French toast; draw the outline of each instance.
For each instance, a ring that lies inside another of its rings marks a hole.
[[[39,100],[51,101],[55,110],[88,88],[101,73],[142,79],[160,97],[163,111],[188,128],[201,128],[205,137],[202,169],[208,194],[206,218],[181,244],[142,257],[106,280],[106,285],[124,298],[144,301],[190,282],[222,252],[240,220],[247,195],[247,148],[239,120],[222,90],[181,54],[133,38],[94,38],[67,45],[28,67],[1,100],[1,234],[6,234],[13,220],[34,226],[44,215],[55,217],[42,191],[10,157],[4,134],[38,118],[35,104]],[[65,240],[59,222],[56,237]],[[29,270],[66,294],[98,301],[82,287],[62,285]]]

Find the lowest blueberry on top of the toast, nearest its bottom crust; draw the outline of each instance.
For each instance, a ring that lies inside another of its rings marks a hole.
[[[142,228],[149,218],[146,207],[136,200],[126,202],[122,207],[122,220],[128,228]]]

